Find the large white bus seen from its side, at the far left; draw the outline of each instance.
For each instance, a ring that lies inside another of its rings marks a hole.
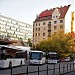
[[[0,68],[24,65],[26,52],[15,46],[0,45]]]

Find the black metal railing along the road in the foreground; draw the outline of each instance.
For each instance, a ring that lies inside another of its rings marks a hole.
[[[29,66],[27,65],[26,66],[26,72],[22,72],[22,73],[16,73],[14,74],[13,73],[13,68],[12,66],[10,67],[11,69],[11,75],[35,75],[34,73],[37,73],[37,75],[42,75],[40,74],[41,72],[46,72],[46,74],[43,74],[43,75],[62,75],[64,73],[68,73],[68,72],[71,72],[71,71],[74,71],[75,70],[75,64],[74,63],[67,63],[67,64],[58,64],[57,65],[53,65],[53,68],[49,68],[49,64],[47,64],[45,66],[46,69],[43,69],[43,70],[40,70],[40,68],[42,68],[42,66],[39,66],[37,65],[37,70],[36,71],[32,71],[30,72],[29,71]]]

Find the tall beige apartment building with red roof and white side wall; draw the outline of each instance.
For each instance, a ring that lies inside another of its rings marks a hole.
[[[64,33],[71,32],[70,6],[61,6],[42,11],[33,22],[33,43],[36,44],[47,39],[52,34],[63,30]]]

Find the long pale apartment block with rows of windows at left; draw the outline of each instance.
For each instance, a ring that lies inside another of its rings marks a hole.
[[[0,38],[3,37],[27,42],[33,37],[33,26],[0,14]]]

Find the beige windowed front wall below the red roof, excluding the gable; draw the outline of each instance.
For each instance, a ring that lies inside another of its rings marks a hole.
[[[63,23],[60,23],[60,20],[63,20]],[[57,21],[57,23],[54,24],[54,21]],[[49,22],[51,22],[51,26],[48,26]],[[43,23],[45,23],[45,25],[43,25]],[[40,21],[40,22],[35,22],[33,25],[34,25],[33,43],[36,44],[41,40],[47,39],[49,36],[56,33],[58,30],[64,30],[64,19]],[[56,29],[54,29],[55,26]],[[60,26],[62,27],[60,28]]]

